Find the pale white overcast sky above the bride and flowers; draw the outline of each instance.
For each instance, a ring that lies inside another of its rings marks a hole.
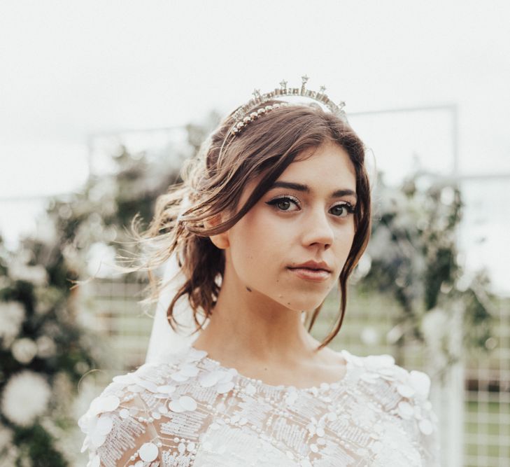
[[[510,174],[509,25],[509,1],[1,0],[0,198],[77,188],[87,135],[199,121],[302,74],[353,114],[457,104],[460,173]],[[417,139],[451,132],[413,118]]]

